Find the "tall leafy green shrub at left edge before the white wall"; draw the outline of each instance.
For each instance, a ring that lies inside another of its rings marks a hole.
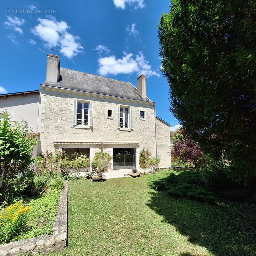
[[[0,119],[0,200],[10,199],[8,195],[19,196],[20,189],[17,184],[24,184],[22,177],[26,177],[29,164],[33,163],[32,150],[37,140],[28,136],[28,124],[14,122],[12,126],[11,118],[7,112],[3,112]],[[16,178],[19,174],[19,182]]]

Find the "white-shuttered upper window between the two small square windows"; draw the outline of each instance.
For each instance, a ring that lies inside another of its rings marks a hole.
[[[118,105],[118,128],[133,129],[133,107]]]

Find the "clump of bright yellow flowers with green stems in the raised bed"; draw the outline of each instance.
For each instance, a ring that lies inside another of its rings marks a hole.
[[[30,206],[24,206],[21,200],[0,212],[0,244],[9,242],[26,229],[26,218],[29,211]]]

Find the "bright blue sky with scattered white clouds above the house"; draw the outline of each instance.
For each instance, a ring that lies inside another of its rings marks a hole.
[[[157,25],[169,6],[166,0],[1,1],[0,93],[39,89],[53,48],[64,68],[122,81],[130,74],[135,86],[146,75],[156,115],[178,125],[159,72]]]

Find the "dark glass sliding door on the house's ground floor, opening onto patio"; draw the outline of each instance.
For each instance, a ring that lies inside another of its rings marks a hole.
[[[113,148],[113,170],[135,168],[135,148]]]

